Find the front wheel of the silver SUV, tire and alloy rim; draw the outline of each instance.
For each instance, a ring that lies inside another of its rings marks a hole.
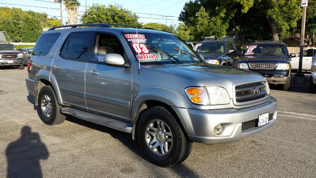
[[[171,167],[187,159],[192,142],[168,110],[156,106],[145,111],[139,119],[138,142],[151,163]]]

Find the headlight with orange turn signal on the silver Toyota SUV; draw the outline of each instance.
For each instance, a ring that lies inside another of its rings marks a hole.
[[[226,89],[222,87],[189,87],[184,92],[194,104],[218,105],[229,104],[230,97]]]

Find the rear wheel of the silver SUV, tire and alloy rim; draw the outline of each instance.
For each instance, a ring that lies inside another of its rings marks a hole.
[[[63,123],[66,116],[60,113],[60,108],[54,90],[50,86],[41,88],[38,98],[40,120],[50,126]]]

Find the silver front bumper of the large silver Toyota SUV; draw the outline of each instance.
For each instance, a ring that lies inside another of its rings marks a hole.
[[[257,134],[271,127],[276,122],[277,101],[270,97],[263,104],[243,109],[187,110],[194,130],[194,134],[188,134],[191,141],[205,144],[226,143]],[[252,120],[258,119],[259,115],[267,112],[273,115],[268,124],[261,127],[254,126],[253,128],[242,129],[243,123],[252,122]],[[224,126],[223,132],[218,135],[213,131],[217,124]]]

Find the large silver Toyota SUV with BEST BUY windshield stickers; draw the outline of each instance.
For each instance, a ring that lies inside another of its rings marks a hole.
[[[169,33],[110,25],[40,36],[26,85],[45,124],[72,115],[132,133],[151,163],[170,167],[189,156],[192,142],[233,142],[276,122],[262,75],[206,64]]]

